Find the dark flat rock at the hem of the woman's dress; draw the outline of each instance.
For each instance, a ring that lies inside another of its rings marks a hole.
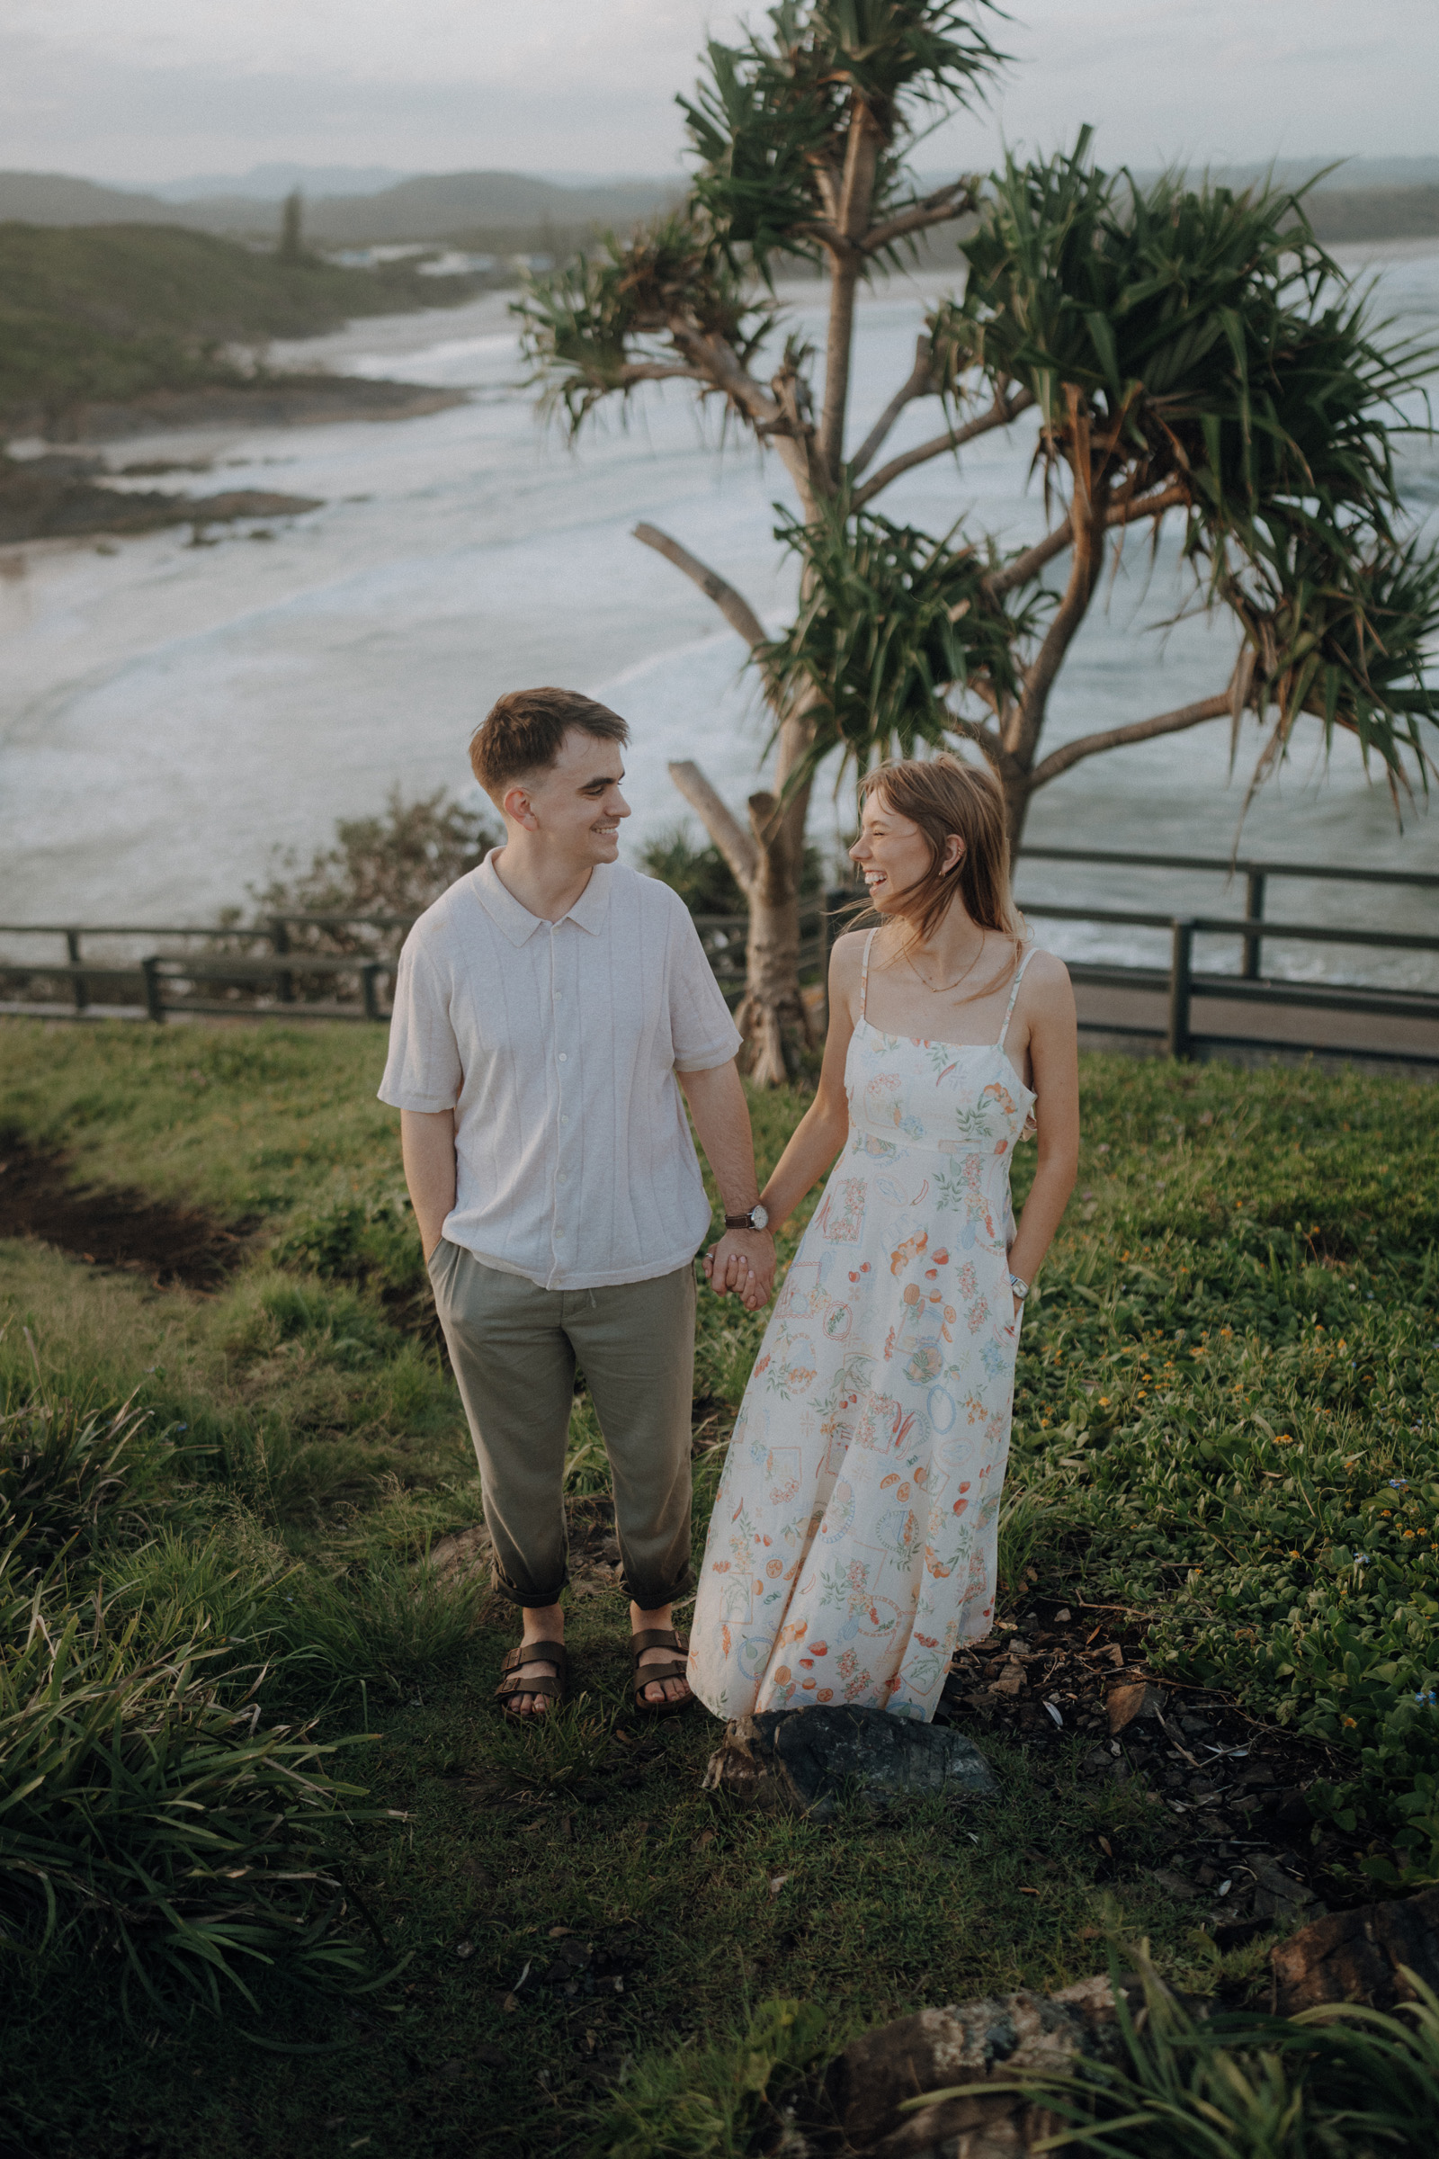
[[[762,1710],[736,1716],[710,1755],[705,1792],[824,1822],[846,1792],[885,1807],[900,1794],[992,1798],[988,1762],[962,1732],[887,1710]]]

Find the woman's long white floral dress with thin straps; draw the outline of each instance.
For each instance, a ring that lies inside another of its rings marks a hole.
[[[744,1390],[710,1518],[690,1686],[716,1716],[856,1701],[934,1716],[995,1617],[1014,1352],[1010,1157],[1033,1095],[1003,1043],[863,1017],[850,1138]]]

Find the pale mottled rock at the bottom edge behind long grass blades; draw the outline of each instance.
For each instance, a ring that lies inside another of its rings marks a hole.
[[[826,2077],[846,2150],[876,2159],[1020,2159],[1064,2124],[1020,2092],[979,2092],[902,2114],[906,2099],[956,2083],[1012,2083],[1036,2070],[1066,2070],[1118,2042],[1107,1978],[1059,1995],[999,1995],[958,2008],[919,2010],[856,2038]]]

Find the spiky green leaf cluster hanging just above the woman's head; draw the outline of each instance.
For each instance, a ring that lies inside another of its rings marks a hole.
[[[1018,648],[1051,596],[1018,611],[990,598],[995,557],[913,525],[826,503],[809,522],[781,514],[775,538],[803,563],[803,602],[783,637],[755,652],[770,702],[805,697],[813,747],[805,773],[844,751],[861,773],[951,741],[947,702],[971,689],[986,704],[1018,693]]]

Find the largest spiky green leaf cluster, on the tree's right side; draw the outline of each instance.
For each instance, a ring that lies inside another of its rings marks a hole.
[[[1081,132],[1044,164],[1008,162],[962,242],[962,320],[934,332],[1033,391],[1044,447],[1072,449],[1068,393],[1111,473],[1176,477],[1206,516],[1312,497],[1372,525],[1394,507],[1389,440],[1433,354],[1385,343],[1288,190],[1139,188],[1100,173]]]

